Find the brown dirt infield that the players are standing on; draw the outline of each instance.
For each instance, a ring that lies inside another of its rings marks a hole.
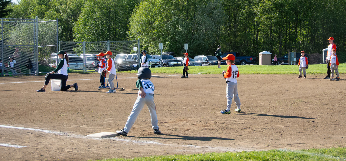
[[[135,74],[118,73],[119,87],[125,89],[111,94],[96,88],[98,74],[70,74],[67,84],[78,82],[79,91],[51,91],[49,83],[44,93],[36,92],[44,75],[0,78],[0,144],[26,146],[0,146],[0,160],[134,158],[346,144],[344,79],[240,73],[242,112],[228,115],[220,114],[226,108],[221,74],[190,74],[185,79],[180,74],[155,75],[161,75],[151,80],[162,135],[154,135],[145,106],[127,137],[101,140],[85,136],[124,127],[137,97]]]

